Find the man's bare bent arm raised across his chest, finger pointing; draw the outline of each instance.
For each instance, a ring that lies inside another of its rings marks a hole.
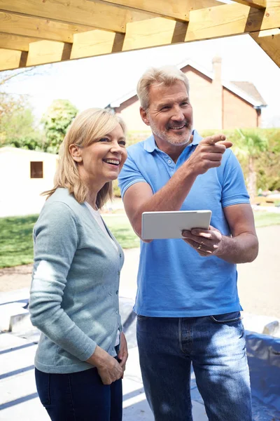
[[[206,173],[209,168],[220,166],[225,149],[231,146],[232,143],[226,141],[224,135],[209,136],[200,142],[190,158],[155,194],[146,182],[138,182],[129,187],[123,197],[123,203],[136,234],[141,237],[143,212],[181,209],[197,175]]]

